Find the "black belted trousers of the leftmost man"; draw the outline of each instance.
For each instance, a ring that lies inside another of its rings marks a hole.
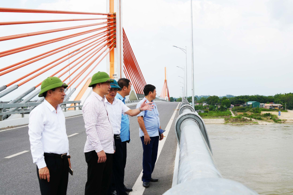
[[[42,195],[66,195],[68,184],[68,167],[67,158],[47,156],[44,154],[45,162],[50,173],[50,182],[46,179],[40,179],[39,169],[37,166],[37,175]]]

